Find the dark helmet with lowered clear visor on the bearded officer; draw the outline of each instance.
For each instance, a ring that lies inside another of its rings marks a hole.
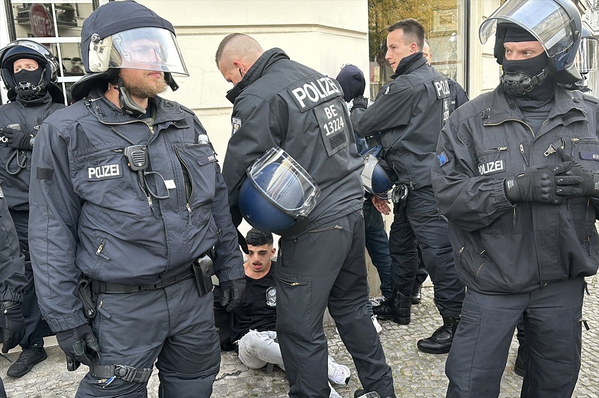
[[[151,51],[154,60],[140,55]],[[172,73],[189,75],[173,25],[132,0],[108,2],[87,17],[81,27],[81,59],[86,75],[72,86],[75,102],[94,86],[114,81],[119,68],[164,72],[173,90]]]

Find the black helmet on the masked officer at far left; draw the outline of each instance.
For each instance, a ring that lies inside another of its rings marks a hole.
[[[13,64],[18,59],[34,59],[43,68],[40,81],[17,85],[14,80]],[[58,81],[58,62],[50,50],[43,44],[32,40],[16,40],[0,49],[0,76],[4,87],[8,90],[8,98],[19,95],[24,99],[38,96],[44,90],[52,95],[52,101],[64,103],[62,90],[56,85]]]

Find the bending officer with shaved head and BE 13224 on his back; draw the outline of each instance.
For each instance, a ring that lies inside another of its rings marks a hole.
[[[243,34],[220,42],[216,64],[235,85],[227,95],[234,104],[233,135],[223,175],[236,223],[246,169],[273,147],[295,159],[320,190],[303,228],[282,231],[279,241],[277,337],[289,396],[329,396],[322,329],[328,306],[364,388],[395,397],[391,369],[366,309],[363,163],[338,83],[290,60],[280,48],[262,50]],[[367,393],[359,391],[358,396]]]

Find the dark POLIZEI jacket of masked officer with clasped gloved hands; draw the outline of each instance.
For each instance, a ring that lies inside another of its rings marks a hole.
[[[506,178],[560,163],[558,146],[599,171],[597,99],[556,84],[553,94],[536,133],[501,85],[456,109],[441,130],[432,185],[449,220],[456,271],[468,288],[521,293],[597,272],[599,199],[553,205],[512,203],[505,195]]]

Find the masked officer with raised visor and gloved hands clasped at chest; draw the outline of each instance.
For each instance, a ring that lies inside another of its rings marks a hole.
[[[468,289],[446,362],[447,397],[497,397],[513,331],[526,333],[522,397],[570,397],[580,370],[585,276],[597,272],[597,99],[560,84],[580,15],[571,1],[507,0],[495,34],[501,83],[458,108],[432,183]]]

